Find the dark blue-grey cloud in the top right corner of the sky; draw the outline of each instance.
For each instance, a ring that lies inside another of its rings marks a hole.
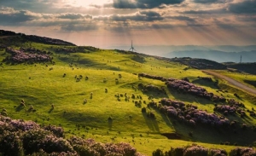
[[[256,14],[256,0],[246,0],[241,3],[230,3],[230,12],[235,14]]]

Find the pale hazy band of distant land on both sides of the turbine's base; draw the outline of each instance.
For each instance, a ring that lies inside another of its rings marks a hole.
[[[218,62],[255,62],[256,45],[248,46],[199,46],[199,45],[182,45],[182,46],[140,46],[134,45],[138,53],[148,55],[159,55],[168,58],[174,57],[191,57],[203,58]],[[130,49],[129,46],[116,46],[116,49]],[[109,47],[114,49],[114,47]]]

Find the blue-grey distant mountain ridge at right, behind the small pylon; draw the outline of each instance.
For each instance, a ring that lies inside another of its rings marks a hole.
[[[256,62],[256,50],[241,52],[224,52],[218,50],[183,50],[163,55],[168,58],[191,57],[217,62]]]

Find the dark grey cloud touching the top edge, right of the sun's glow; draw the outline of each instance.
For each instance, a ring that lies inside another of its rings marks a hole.
[[[184,0],[113,0],[116,9],[153,9],[165,8],[166,5],[183,3]]]

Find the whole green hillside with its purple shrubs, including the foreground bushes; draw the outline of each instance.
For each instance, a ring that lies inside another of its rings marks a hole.
[[[0,33],[5,127],[0,142],[15,144],[4,149],[17,147],[17,153],[26,155],[83,155],[89,149],[99,155],[110,149],[116,155],[214,155],[212,149],[220,155],[254,153],[246,147],[254,147],[256,141],[255,95],[199,69],[212,69],[241,83],[254,82],[255,75],[235,74],[212,61],[181,59],[190,65],[177,58],[6,33]],[[29,135],[34,139],[26,139]],[[33,147],[35,142],[42,146]],[[14,151],[0,151],[9,152]]]

